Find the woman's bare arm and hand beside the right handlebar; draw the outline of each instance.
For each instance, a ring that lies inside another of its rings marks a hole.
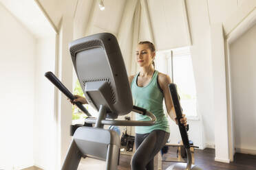
[[[162,73],[158,74],[158,82],[160,85],[160,88],[162,88],[162,91],[164,93],[164,101],[165,101],[165,106],[167,107],[167,112],[169,114],[169,117],[173,121],[175,121],[176,124],[178,124],[178,121],[176,119],[176,114],[175,114],[175,109],[173,106],[173,100],[171,99],[171,93],[168,88],[168,85],[171,84],[171,78],[169,75],[164,75]],[[180,122],[186,125],[186,117],[185,114],[182,114],[182,119],[180,119]]]

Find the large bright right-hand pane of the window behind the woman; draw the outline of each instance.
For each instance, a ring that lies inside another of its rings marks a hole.
[[[195,79],[191,56],[173,56],[173,82],[178,86],[184,114],[196,116]]]

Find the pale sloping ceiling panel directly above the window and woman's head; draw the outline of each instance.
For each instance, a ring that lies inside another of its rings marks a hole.
[[[157,49],[166,50],[191,45],[183,1],[148,1]]]

